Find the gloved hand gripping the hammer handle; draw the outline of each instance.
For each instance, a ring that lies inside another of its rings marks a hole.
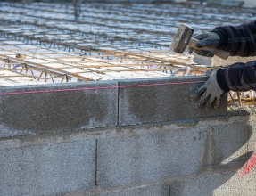
[[[219,35],[214,32],[202,33],[195,36],[194,38],[200,40],[199,42],[196,43],[196,47],[199,47],[199,48],[202,48],[205,46],[216,48],[219,45],[219,41],[220,41]],[[198,55],[202,55],[206,57],[214,56],[214,53],[211,53],[211,51],[205,51],[205,50],[199,51],[191,47],[188,48],[188,53],[193,53],[193,51]]]

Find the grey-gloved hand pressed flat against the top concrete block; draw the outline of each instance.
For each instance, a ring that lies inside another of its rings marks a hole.
[[[194,105],[195,110],[209,111],[212,106],[214,109],[219,107],[224,92],[218,85],[216,74],[217,71],[212,70],[211,77],[201,87],[190,94],[191,100],[194,100],[195,97],[201,95]]]

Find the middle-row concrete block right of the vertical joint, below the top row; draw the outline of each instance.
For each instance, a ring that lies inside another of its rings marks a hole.
[[[252,156],[251,135],[243,122],[100,139],[97,182],[109,188],[237,169]]]

